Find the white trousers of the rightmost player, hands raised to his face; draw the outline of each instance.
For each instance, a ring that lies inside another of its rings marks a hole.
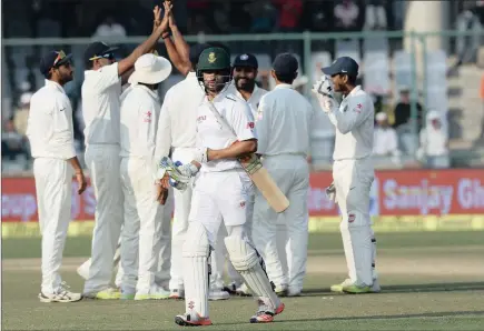
[[[369,190],[374,180],[372,159],[335,161],[333,180],[342,212],[339,229],[349,279],[356,285],[372,285],[376,253],[369,217]]]

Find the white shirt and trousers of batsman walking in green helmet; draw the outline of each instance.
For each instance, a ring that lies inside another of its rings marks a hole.
[[[199,147],[219,150],[229,147],[236,140],[257,139],[250,109],[243,99],[229,93],[227,89],[213,100],[213,106],[234,132],[228,131],[217,121],[208,102],[205,99],[203,104],[198,107],[197,144]],[[246,223],[247,205],[253,194],[254,184],[239,161],[234,159],[204,163],[194,185],[189,223],[203,224],[209,244],[215,247],[223,220],[226,227]],[[185,245],[187,244],[186,242]],[[221,249],[220,245],[219,249]],[[190,264],[185,265],[185,268],[190,268]],[[199,304],[203,307],[203,303],[199,303],[195,297],[190,297],[194,295],[194,292],[189,283],[190,278],[187,278],[189,272],[190,270],[184,270],[187,310],[189,302],[194,301],[195,310],[200,312],[204,311],[199,307]]]

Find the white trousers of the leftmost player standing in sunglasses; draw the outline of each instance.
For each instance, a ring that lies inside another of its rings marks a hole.
[[[33,162],[42,235],[43,294],[52,294],[61,284],[59,269],[71,218],[72,175],[72,168],[65,160],[39,158]]]

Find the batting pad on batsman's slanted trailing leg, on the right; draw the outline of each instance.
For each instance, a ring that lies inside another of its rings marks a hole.
[[[257,250],[247,241],[236,235],[225,238],[225,245],[230,257],[234,269],[244,278],[247,287],[255,297],[273,310],[280,304],[279,298],[273,290],[273,285],[264,268],[264,261]]]

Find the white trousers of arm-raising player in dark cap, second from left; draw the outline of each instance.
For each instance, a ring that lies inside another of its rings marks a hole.
[[[119,175],[119,147],[91,144],[86,148],[86,164],[96,197],[96,225],[92,232],[91,267],[85,293],[110,285],[112,259],[122,227],[122,190]]]

